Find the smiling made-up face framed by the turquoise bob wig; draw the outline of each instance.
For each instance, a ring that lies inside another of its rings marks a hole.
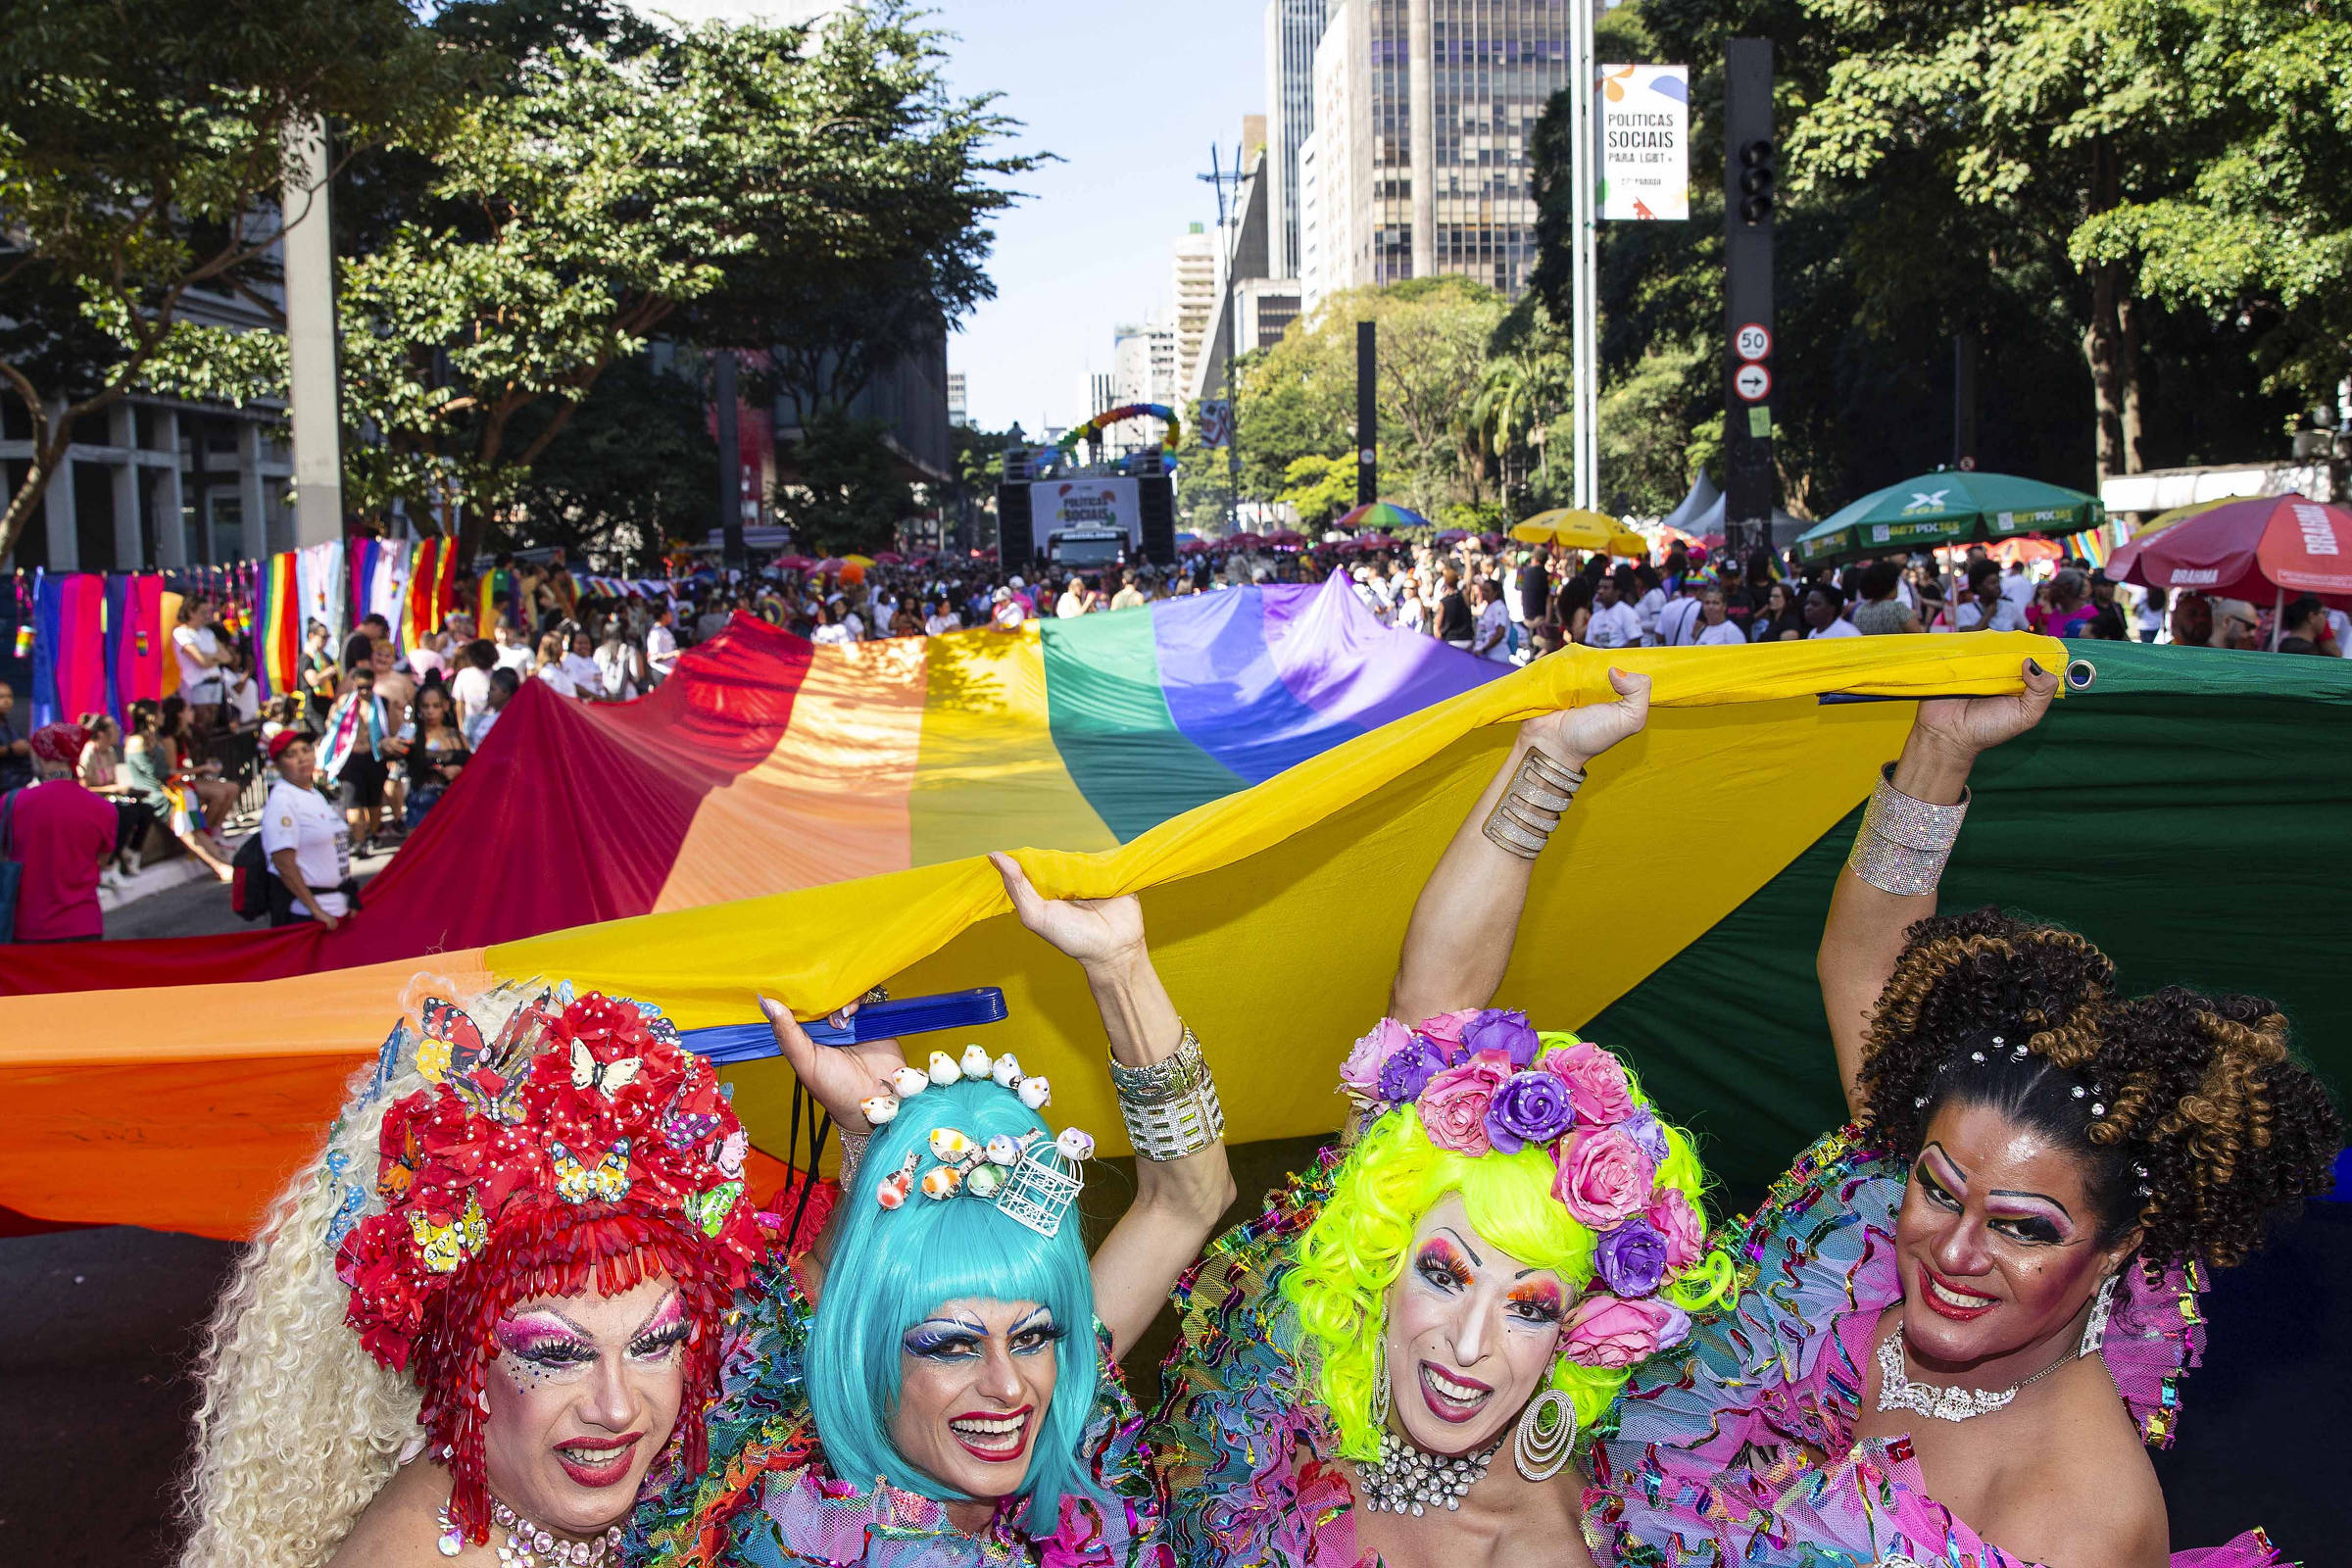
[[[1021,1490],[1065,1333],[1037,1302],[943,1302],[898,1338],[891,1446],[964,1497]]]

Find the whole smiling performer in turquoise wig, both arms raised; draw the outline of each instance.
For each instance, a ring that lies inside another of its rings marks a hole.
[[[710,1460],[656,1479],[630,1563],[1167,1561],[1117,1356],[1232,1201],[1223,1112],[1138,903],[1047,900],[995,863],[1021,922],[1087,971],[1141,1157],[1134,1204],[1089,1260],[1070,1204],[1094,1138],[1044,1121],[1051,1086],[1014,1053],[828,1051],[762,999],[844,1131],[842,1199],[811,1253],[746,1293]]]

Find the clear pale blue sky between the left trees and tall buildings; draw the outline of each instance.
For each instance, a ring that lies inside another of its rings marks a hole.
[[[637,9],[790,21],[830,0],[630,0]],[[1171,244],[1216,221],[1216,193],[1192,179],[1209,141],[1230,160],[1242,115],[1265,113],[1265,0],[934,0],[955,33],[948,80],[960,96],[1002,94],[1023,122],[1014,148],[1058,153],[1018,181],[1025,200],[995,223],[988,275],[997,299],[948,339],[971,421],[1028,433],[1075,425],[1084,374],[1110,369],[1110,329],[1169,303]]]

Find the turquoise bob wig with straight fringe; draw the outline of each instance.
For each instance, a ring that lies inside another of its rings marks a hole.
[[[809,1408],[833,1474],[854,1486],[880,1476],[898,1490],[967,1500],[908,1465],[889,1441],[898,1410],[898,1342],[941,1305],[964,1298],[1037,1302],[1063,1331],[1054,1401],[1037,1425],[1030,1467],[1014,1493],[1033,1500],[1030,1519],[1054,1519],[1063,1493],[1087,1493],[1080,1443],[1094,1408],[1094,1276],[1077,1208],[1047,1239],[995,1204],[974,1197],[929,1199],[917,1190],[901,1208],[882,1208],[875,1187],[910,1150],[915,1175],[929,1171],[931,1128],[953,1126],[974,1143],[1018,1138],[1044,1119],[1009,1088],[990,1081],[934,1084],[903,1100],[875,1131],[866,1159],[842,1194],[840,1229],[826,1265],[826,1288],[809,1331]],[[1051,1126],[1044,1128],[1051,1135]],[[1042,1509],[1042,1512],[1040,1512]]]

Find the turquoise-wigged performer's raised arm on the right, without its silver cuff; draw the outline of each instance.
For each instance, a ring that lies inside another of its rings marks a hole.
[[[1112,1063],[1176,1072],[1171,1060],[1183,1048],[1185,1027],[1143,945],[1143,905],[1134,896],[1042,898],[1011,856],[988,858],[1004,877],[1021,924],[1087,971]],[[1094,1253],[1094,1314],[1110,1331],[1112,1354],[1127,1354],[1143,1335],[1230,1201],[1232,1168],[1223,1138],[1176,1159],[1145,1159],[1138,1150],[1136,1201]]]

